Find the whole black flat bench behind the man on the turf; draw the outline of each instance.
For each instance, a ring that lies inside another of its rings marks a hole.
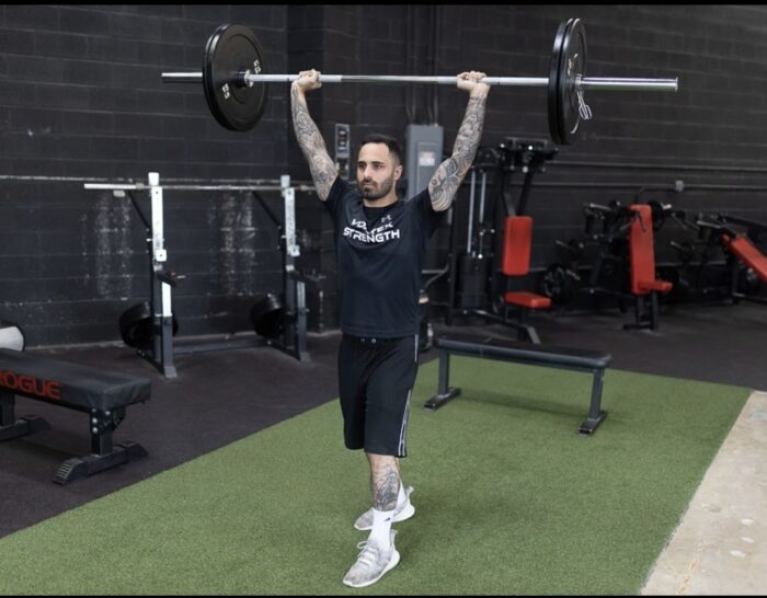
[[[439,386],[437,394],[424,403],[424,409],[436,411],[460,394],[460,389],[449,386],[450,355],[462,355],[531,366],[587,371],[594,376],[592,400],[588,407],[588,417],[579,426],[579,434],[582,436],[594,434],[594,430],[607,416],[607,412],[602,411],[600,405],[605,368],[613,359],[613,356],[608,353],[556,347],[552,345],[534,345],[506,338],[469,335],[439,336],[435,338],[434,346],[439,349]]]

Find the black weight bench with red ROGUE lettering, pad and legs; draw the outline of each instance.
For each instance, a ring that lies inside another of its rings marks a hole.
[[[83,411],[89,415],[91,455],[67,459],[54,482],[67,484],[147,455],[138,444],[113,444],[112,430],[128,405],[149,400],[148,378],[104,371],[28,353],[0,349],[0,441],[50,428],[36,415],[15,419],[15,395]]]

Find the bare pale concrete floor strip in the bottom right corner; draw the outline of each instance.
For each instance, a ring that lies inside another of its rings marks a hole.
[[[767,392],[748,398],[641,594],[767,594]]]

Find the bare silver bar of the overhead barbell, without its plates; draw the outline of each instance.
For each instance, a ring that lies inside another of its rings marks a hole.
[[[298,79],[297,74],[251,74],[238,76],[232,83],[244,81],[254,83],[288,83]],[[163,72],[163,82],[202,83],[202,72]],[[440,76],[400,76],[400,74],[322,74],[322,83],[436,83],[455,85],[456,77]],[[641,90],[641,91],[677,91],[679,81],[674,79],[632,79],[609,77],[584,77],[577,80],[577,87],[584,90]],[[546,77],[485,77],[482,83],[489,85],[511,85],[523,88],[545,88],[549,84]]]

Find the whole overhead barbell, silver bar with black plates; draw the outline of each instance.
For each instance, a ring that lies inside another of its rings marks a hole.
[[[549,134],[556,143],[572,143],[592,111],[585,91],[677,91],[678,78],[585,77],[586,32],[580,19],[562,21],[554,36],[549,77],[486,77],[490,85],[547,88]],[[210,112],[230,130],[247,131],[261,119],[266,83],[291,82],[298,74],[266,74],[264,53],[243,25],[220,25],[205,46],[202,72],[163,72],[163,82],[203,83]],[[455,85],[456,77],[322,74],[322,83],[436,83]]]

